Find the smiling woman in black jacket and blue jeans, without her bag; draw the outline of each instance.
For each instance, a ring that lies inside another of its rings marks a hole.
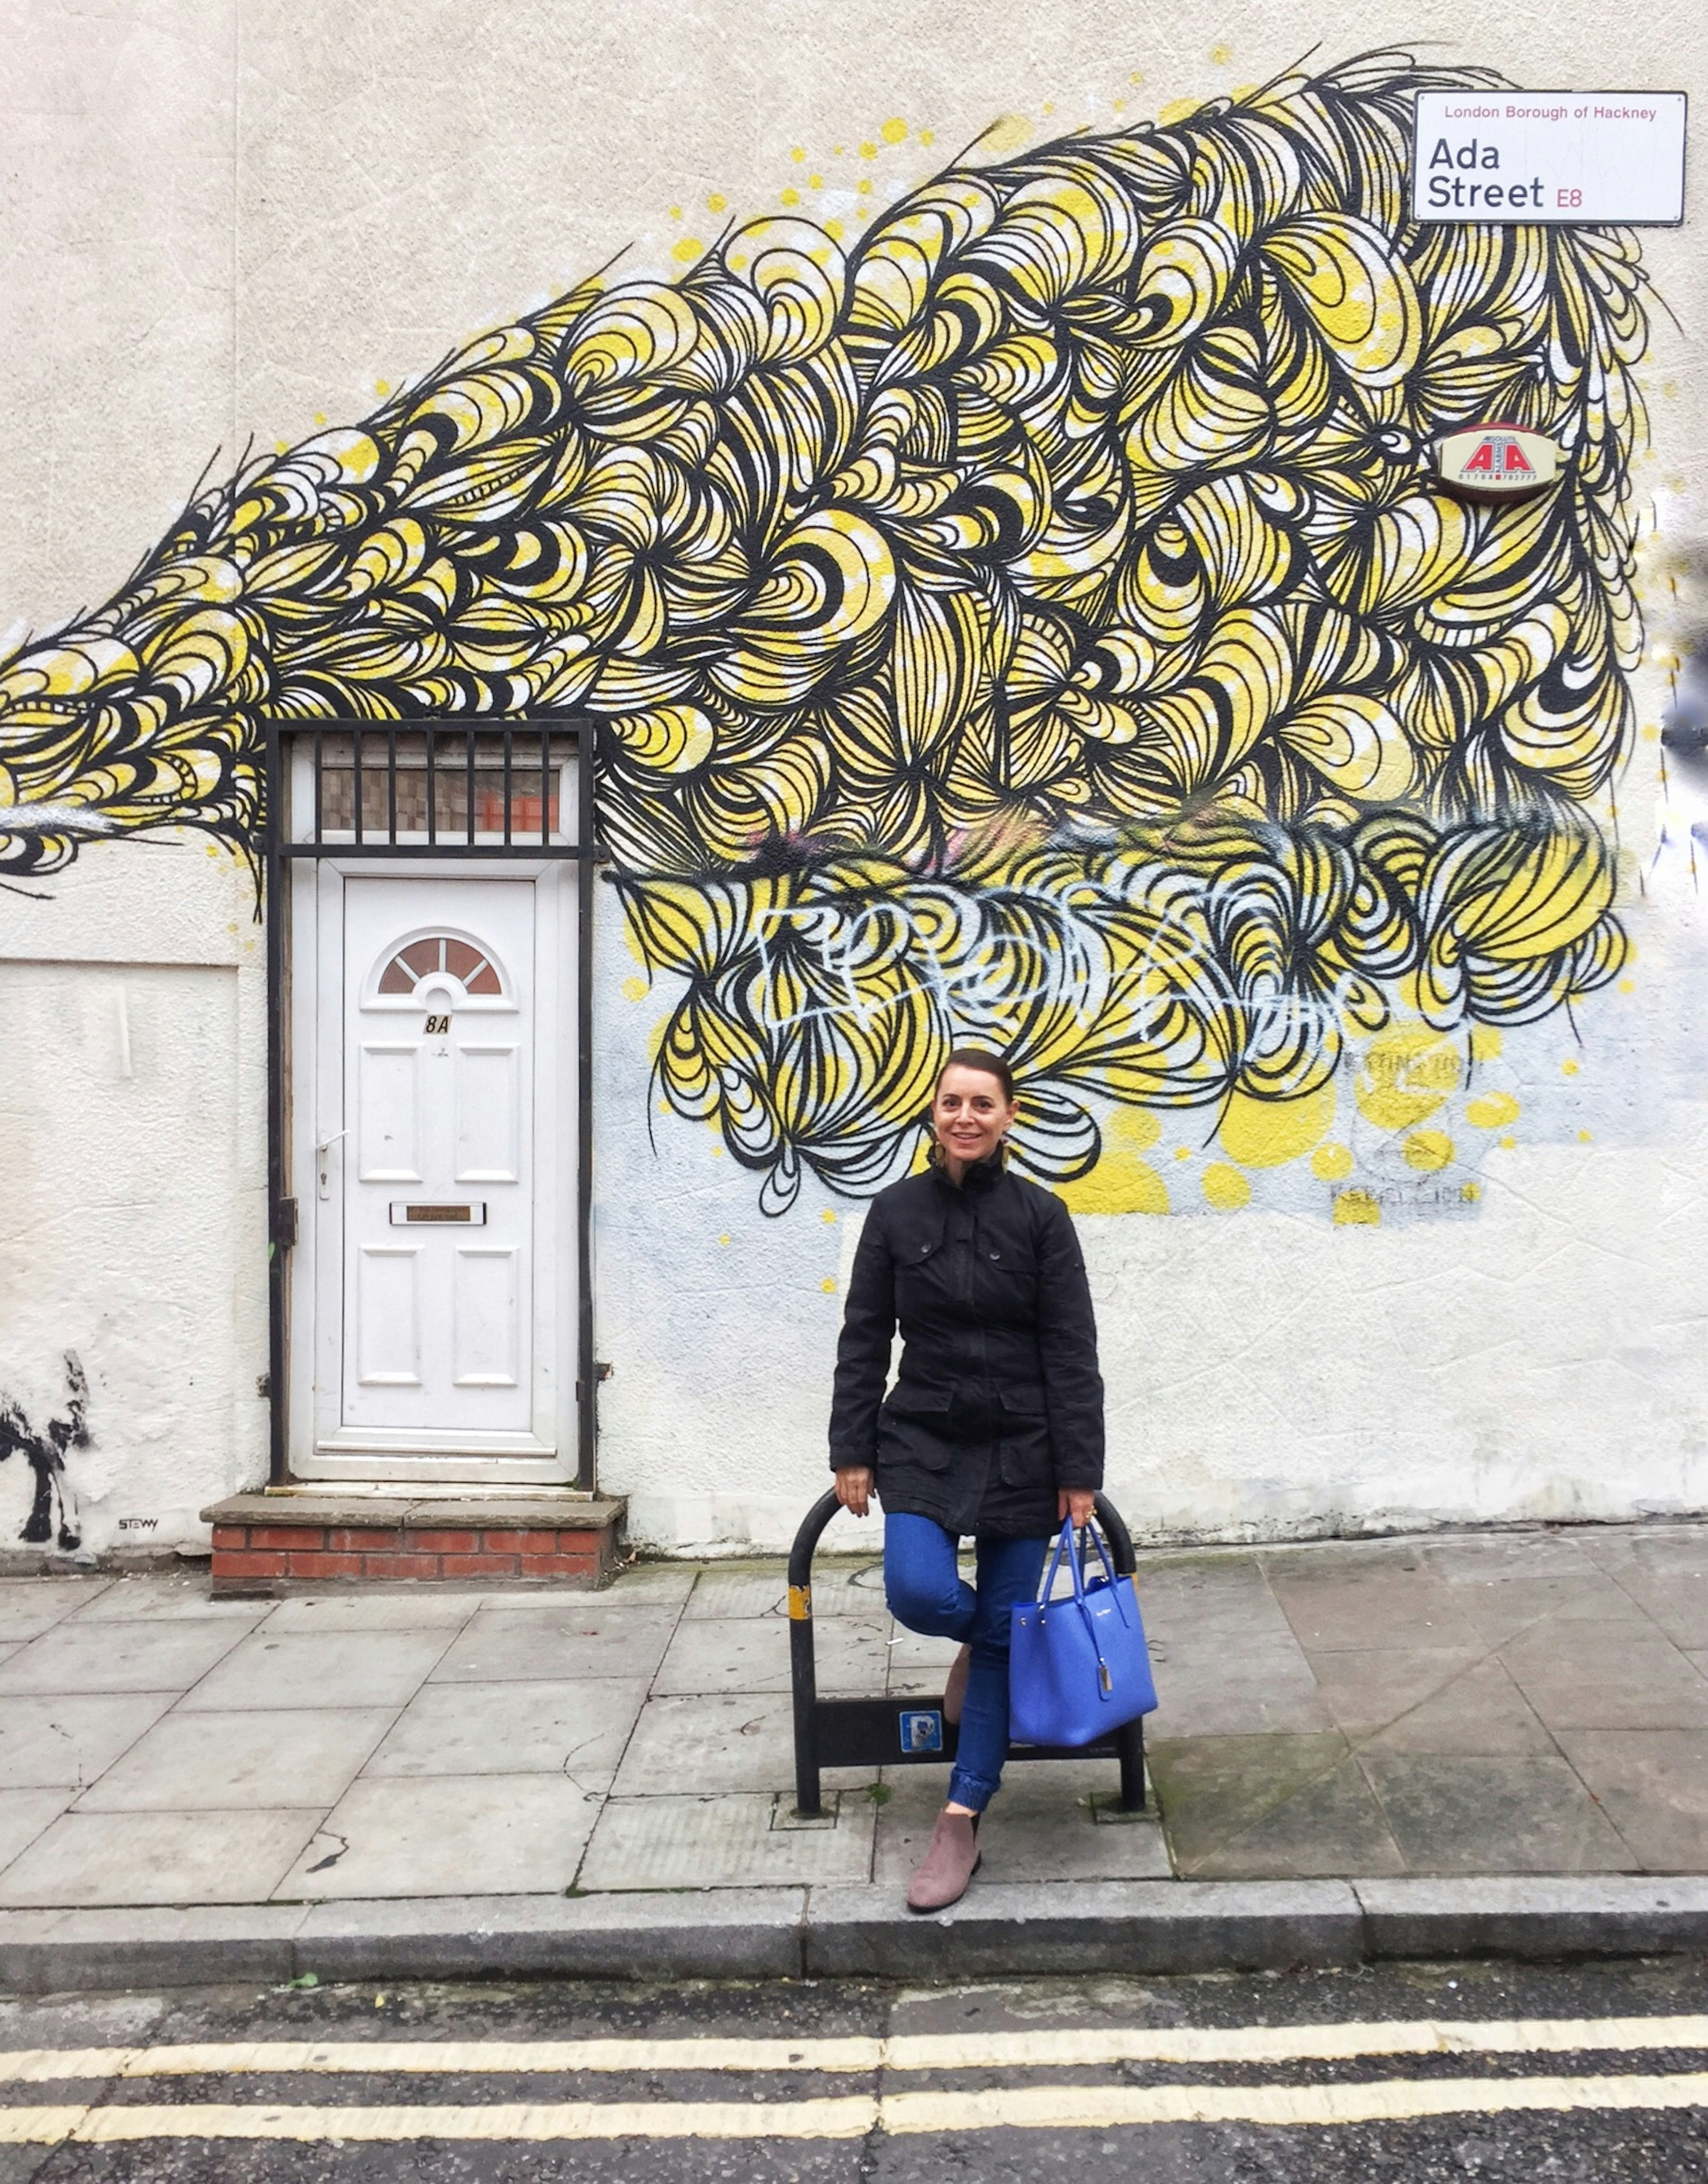
[[[1066,1206],[1003,1166],[1013,1075],[948,1057],[930,1168],[880,1190],[847,1284],[830,1465],[837,1500],[885,1505],[885,1594],[898,1623],[959,1638],[944,1712],[961,1741],[911,1911],[941,1911],[978,1870],[978,1815],[1009,1749],[1009,1610],[1037,1592],[1066,1516],[1103,1483],[1103,1380],[1086,1262]],[[902,1367],[889,1380],[895,1324]],[[954,1564],[963,1533],[978,1588]]]

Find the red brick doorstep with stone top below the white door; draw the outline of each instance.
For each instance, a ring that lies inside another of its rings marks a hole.
[[[376,1581],[601,1586],[625,1509],[574,1494],[286,1492],[234,1494],[201,1518],[214,1527],[214,1592],[280,1597]]]

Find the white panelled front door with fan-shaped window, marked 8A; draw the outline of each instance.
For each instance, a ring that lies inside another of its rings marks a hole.
[[[557,1053],[572,887],[561,867],[319,871],[312,1136],[297,1094],[315,1269],[301,1476],[574,1468],[574,1136]]]

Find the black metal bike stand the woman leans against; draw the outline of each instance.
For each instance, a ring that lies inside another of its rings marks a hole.
[[[837,1494],[806,1511],[788,1548],[788,1675],[795,1690],[795,1811],[819,1819],[823,1767],[941,1767],[954,1758],[957,1730],[937,1699],[821,1699],[813,1660],[813,1551],[837,1514]],[[1114,1503],[1096,1496],[1096,1520],[1110,1542],[1116,1577],[1136,1570],[1134,1540]],[[1081,1542],[1083,1546],[1083,1542]],[[1009,1745],[1011,1760],[1120,1762],[1120,1806],[1144,1811],[1144,1721],[1127,1721],[1094,1745]]]

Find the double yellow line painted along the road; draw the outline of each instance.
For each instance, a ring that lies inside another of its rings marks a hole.
[[[1149,2064],[1297,2064],[1372,2055],[1638,2055],[1708,2049],[1708,2018],[1422,2018],[1345,2025],[1070,2027],[832,2040],[253,2040],[155,2049],[22,2049],[0,2081],[325,2073],[917,2073]],[[1321,2086],[1009,2086],[810,2101],[494,2101],[315,2108],[186,2103],[2,2108],[0,2145],[146,2138],[376,2143],[408,2138],[861,2138],[1151,2123],[1345,2125],[1413,2116],[1708,2108],[1708,2073],[1426,2077]]]

